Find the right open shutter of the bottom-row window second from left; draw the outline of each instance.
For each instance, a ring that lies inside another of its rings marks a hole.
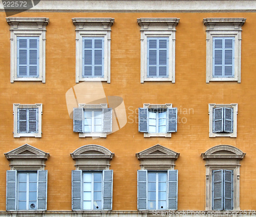
[[[103,170],[103,209],[112,210],[113,170]]]

